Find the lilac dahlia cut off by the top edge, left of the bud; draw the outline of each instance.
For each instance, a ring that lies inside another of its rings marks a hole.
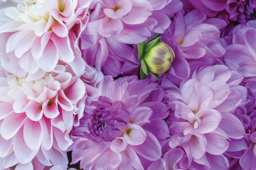
[[[179,0],[94,0],[81,38],[86,63],[113,77],[136,74],[139,62],[127,44],[163,33],[181,10]]]

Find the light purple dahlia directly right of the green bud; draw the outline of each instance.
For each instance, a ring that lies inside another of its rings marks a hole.
[[[162,41],[171,46],[175,53],[172,74],[181,79],[188,78],[190,69],[185,59],[223,56],[225,49],[218,39],[219,29],[224,26],[224,20],[207,19],[206,15],[198,10],[193,10],[185,16],[182,11],[177,13],[170,27],[161,35]]]

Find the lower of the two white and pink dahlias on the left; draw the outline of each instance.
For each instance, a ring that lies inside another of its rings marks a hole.
[[[68,135],[79,125],[85,105],[81,99],[90,90],[63,65],[38,80],[18,78],[2,68],[0,75],[2,167],[27,164],[36,156],[45,166],[67,168]]]

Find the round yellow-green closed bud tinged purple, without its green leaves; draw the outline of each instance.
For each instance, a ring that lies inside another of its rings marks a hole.
[[[144,55],[147,70],[156,74],[162,74],[169,70],[174,59],[174,52],[170,46],[158,42]]]

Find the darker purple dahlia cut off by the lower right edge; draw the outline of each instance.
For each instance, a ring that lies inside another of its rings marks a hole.
[[[240,104],[233,112],[244,126],[246,135],[242,139],[232,139],[230,146],[225,152],[229,158],[230,168],[254,169],[256,164],[256,95],[248,89],[247,101]]]

